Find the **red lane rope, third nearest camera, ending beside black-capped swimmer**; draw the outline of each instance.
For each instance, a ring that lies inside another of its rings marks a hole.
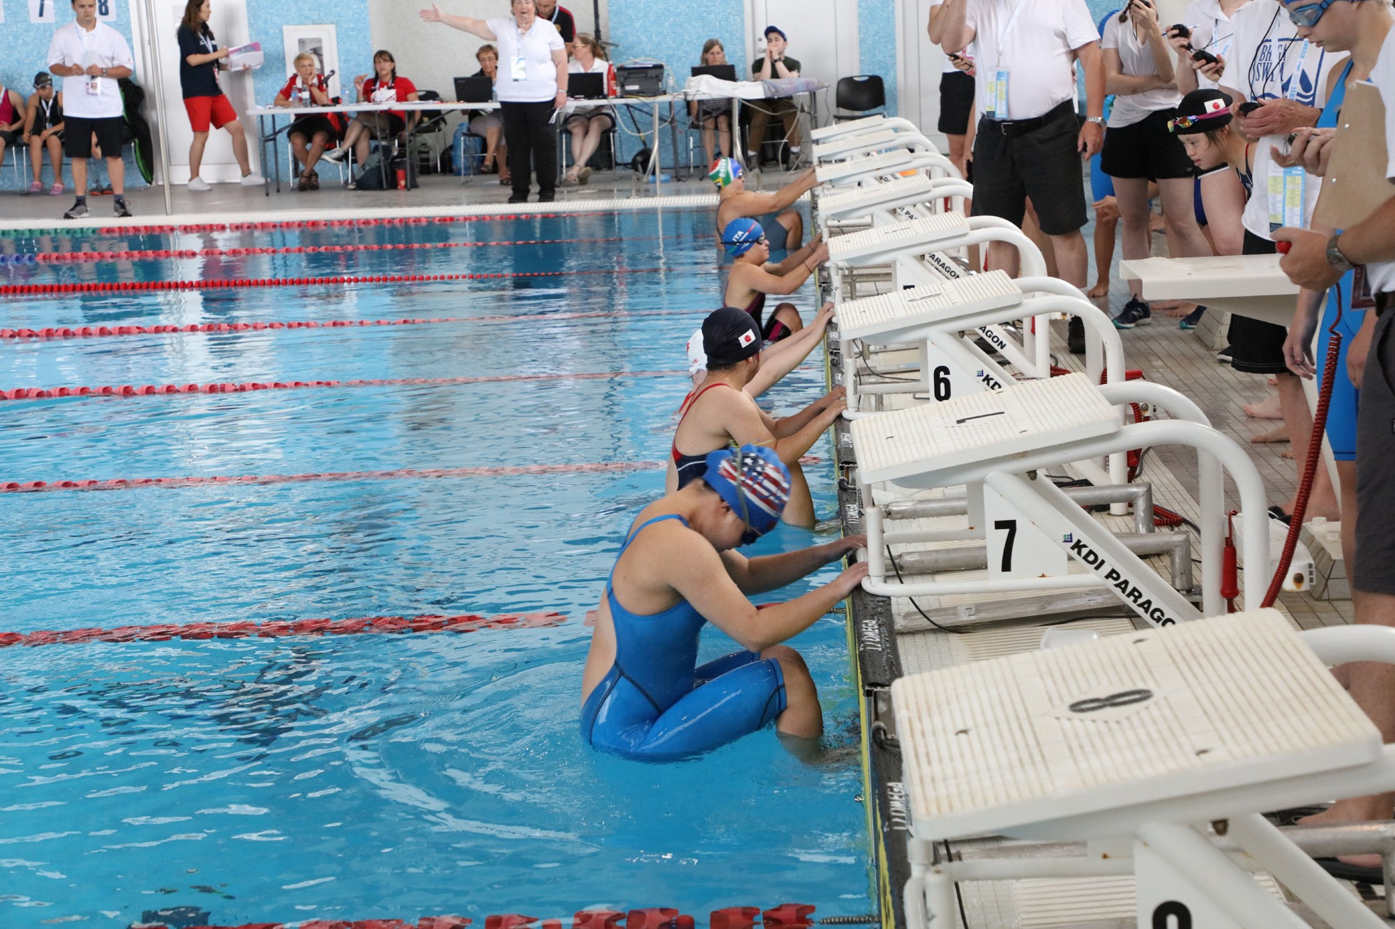
[[[398,467],[385,471],[324,471],[307,474],[241,474],[237,477],[112,477],[107,480],[0,481],[0,494],[54,491],[112,491],[144,487],[208,487],[213,484],[308,484],[311,481],[381,481],[467,477],[525,477],[531,474],[594,474],[653,471],[667,462],[589,462],[579,464],[504,464],[494,467]]]

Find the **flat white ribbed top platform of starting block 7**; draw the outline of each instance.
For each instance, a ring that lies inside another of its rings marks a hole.
[[[864,484],[1069,446],[1120,428],[1119,413],[1078,372],[875,413],[851,424]],[[1069,449],[1063,453],[1063,462],[1074,460]]]

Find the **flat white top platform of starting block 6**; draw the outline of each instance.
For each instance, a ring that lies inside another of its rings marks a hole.
[[[834,240],[837,241],[837,240]],[[917,326],[965,317],[985,310],[1016,307],[1023,292],[1006,271],[946,280],[943,285],[919,285],[875,297],[847,300],[834,312],[838,336],[861,339],[891,336]],[[894,339],[893,339],[894,340]]]

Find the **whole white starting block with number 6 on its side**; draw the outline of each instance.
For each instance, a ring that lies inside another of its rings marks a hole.
[[[1038,293],[1045,296],[1034,297]],[[915,382],[900,379],[864,385],[855,377],[844,378],[848,393],[848,413],[844,416],[857,418],[866,414],[859,405],[864,395],[925,393],[943,402],[1016,384],[1011,374],[975,345],[975,336],[982,336],[1020,371],[1034,371],[1038,363],[1028,358],[1017,336],[1000,324],[1041,312],[1080,317],[1095,336],[1087,340],[1087,350],[1094,349],[1094,357],[1087,357],[1087,372],[1095,382],[1101,379],[1101,372],[1106,384],[1123,381],[1124,356],[1119,332],[1109,317],[1078,290],[1055,278],[1014,280],[1004,271],[990,271],[838,303],[834,318],[844,358],[857,357],[854,342],[864,346],[914,343],[921,352]],[[961,338],[961,332],[972,335]],[[1116,478],[1122,483],[1123,474]]]

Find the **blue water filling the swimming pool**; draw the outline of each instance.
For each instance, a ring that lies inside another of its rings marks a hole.
[[[393,229],[0,240],[4,251],[626,237],[527,247],[6,265],[0,282],[643,273],[10,299],[0,328],[458,317],[371,329],[0,345],[0,388],[671,371],[717,305],[706,211]],[[812,292],[805,293],[808,305]],[[653,314],[653,311],[664,311]],[[600,312],[586,318],[566,314]],[[629,315],[629,314],[650,315]],[[490,321],[469,319],[491,317]],[[492,317],[513,317],[492,319]],[[661,463],[684,377],[0,406],[0,481]],[[767,399],[823,389],[812,358]],[[813,453],[827,460],[824,442]],[[831,469],[809,469],[820,512]],[[798,901],[864,914],[844,625],[794,644],[830,757],[766,731],[642,764],[578,734],[594,608],[663,470],[0,495],[0,630],[558,611],[469,635],[0,650],[0,926],[219,925]],[[816,541],[781,529],[756,551]],[[833,576],[836,568],[810,583]],[[804,586],[794,591],[804,590]],[[704,633],[703,660],[732,649]]]

